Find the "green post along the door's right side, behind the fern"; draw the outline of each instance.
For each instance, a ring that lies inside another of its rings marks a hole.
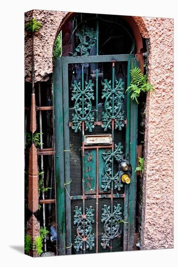
[[[131,59],[131,68],[139,67],[135,58]],[[130,164],[132,166],[132,177],[129,185],[128,195],[128,247],[127,250],[134,250],[135,221],[136,221],[136,185],[137,174],[137,127],[138,127],[138,105],[130,99]]]

